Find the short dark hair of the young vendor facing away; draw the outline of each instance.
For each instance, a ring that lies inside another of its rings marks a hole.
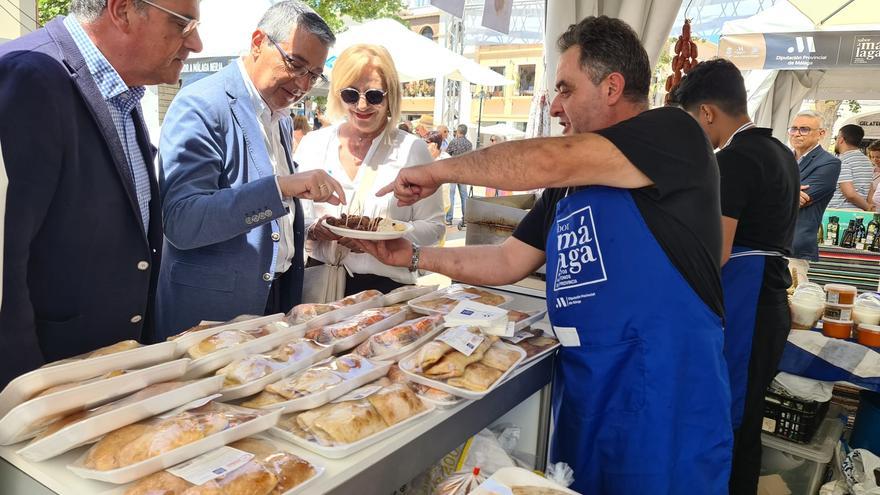
[[[672,99],[689,112],[710,103],[728,115],[748,114],[748,96],[742,73],[733,62],[723,58],[694,66],[681,79]]]

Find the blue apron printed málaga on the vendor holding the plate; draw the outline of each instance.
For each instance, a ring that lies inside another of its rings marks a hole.
[[[546,254],[550,321],[568,344],[554,375],[551,460],[568,463],[572,488],[589,495],[726,494],[721,319],[630,192],[590,187],[560,201]]]

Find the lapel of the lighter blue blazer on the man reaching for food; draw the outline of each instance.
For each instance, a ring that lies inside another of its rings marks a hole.
[[[241,78],[238,62],[229,64],[226,71],[226,95],[229,98],[229,109],[241,128],[244,144],[248,155],[254,163],[260,177],[268,177],[275,173],[272,163],[269,161],[269,150],[263,140],[263,131],[254,113],[250,95]],[[245,172],[246,173],[246,172]]]

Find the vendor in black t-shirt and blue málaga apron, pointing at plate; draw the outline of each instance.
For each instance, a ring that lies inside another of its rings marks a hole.
[[[412,204],[443,183],[550,187],[514,236],[497,246],[361,245],[390,265],[483,285],[513,283],[546,261],[563,344],[551,460],[574,469],[580,493],[726,493],[733,445],[712,148],[682,110],[648,110],[648,57],[622,21],[588,17],[558,46],[550,112],[565,136],[405,168],[384,189]]]

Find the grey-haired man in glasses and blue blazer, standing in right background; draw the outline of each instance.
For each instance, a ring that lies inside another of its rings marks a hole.
[[[801,174],[800,211],[789,264],[795,269],[798,283],[803,283],[808,280],[810,261],[819,260],[819,224],[837,189],[840,159],[819,145],[825,128],[822,116],[816,112],[797,114],[788,128],[788,136]]]

